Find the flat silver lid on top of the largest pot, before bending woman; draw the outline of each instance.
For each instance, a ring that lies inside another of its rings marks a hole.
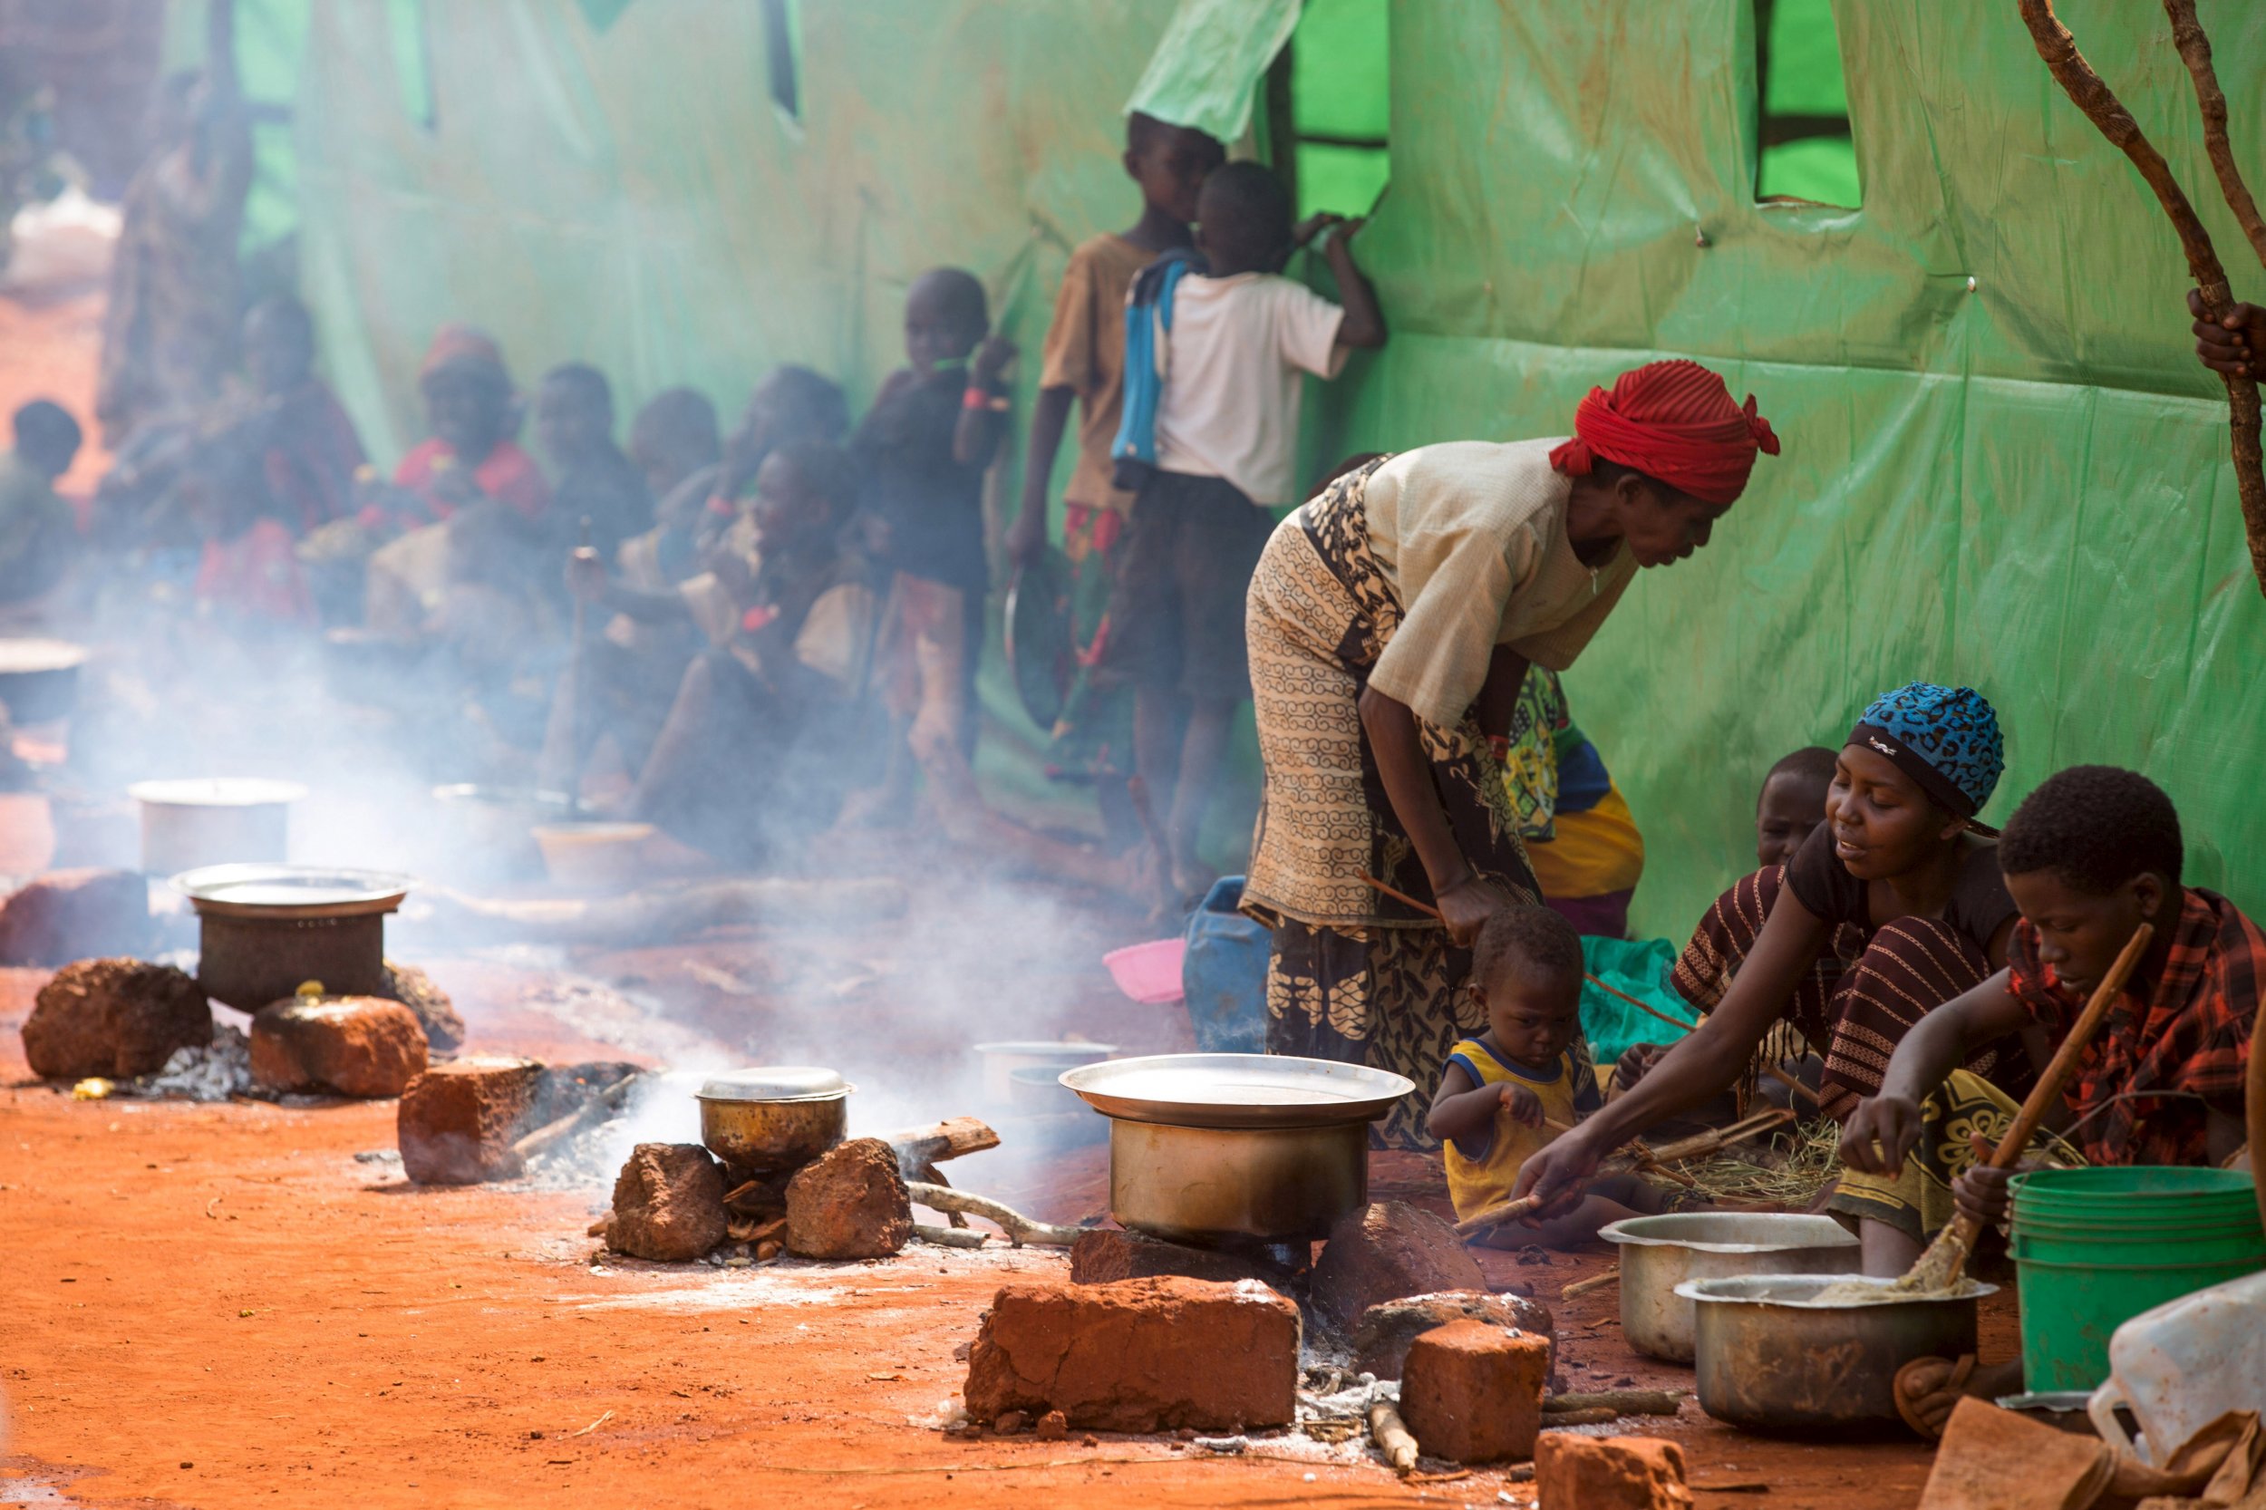
[[[1416,1088],[1407,1075],[1285,1054],[1149,1054],[1063,1075],[1122,1122],[1167,1127],[1335,1127],[1375,1122]]]

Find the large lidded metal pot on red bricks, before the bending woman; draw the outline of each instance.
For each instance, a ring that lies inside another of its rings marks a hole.
[[[1151,1054],[1063,1072],[1110,1118],[1110,1215],[1174,1242],[1298,1242],[1369,1202],[1369,1125],[1403,1075],[1273,1054]]]

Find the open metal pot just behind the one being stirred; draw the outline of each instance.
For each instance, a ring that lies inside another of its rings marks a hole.
[[[1770,1211],[1684,1211],[1629,1218],[1598,1231],[1620,1245],[1620,1335],[1647,1358],[1693,1360],[1686,1279],[1829,1274],[1856,1258],[1856,1238],[1833,1218]]]

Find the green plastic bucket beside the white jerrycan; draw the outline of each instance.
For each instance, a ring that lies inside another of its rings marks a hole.
[[[2024,1388],[2092,1390],[2141,1310],[2266,1270],[2239,1170],[2035,1170],[2012,1179]]]

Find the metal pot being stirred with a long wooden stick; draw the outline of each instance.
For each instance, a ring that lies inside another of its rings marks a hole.
[[[1967,1281],[1946,1299],[1815,1301],[1845,1279],[1858,1276],[1745,1274],[1677,1286],[1697,1306],[1700,1408],[1752,1431],[1897,1422],[1897,1369],[1915,1358],[1976,1351],[1976,1301],[1996,1292]]]

